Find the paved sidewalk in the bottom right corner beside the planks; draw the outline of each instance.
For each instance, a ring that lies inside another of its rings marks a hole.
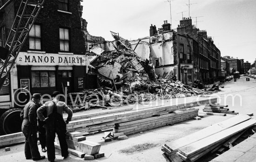
[[[256,134],[210,162],[256,162]]]

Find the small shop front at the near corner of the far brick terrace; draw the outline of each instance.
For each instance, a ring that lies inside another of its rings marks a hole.
[[[180,76],[183,84],[193,84],[193,64],[181,64]]]

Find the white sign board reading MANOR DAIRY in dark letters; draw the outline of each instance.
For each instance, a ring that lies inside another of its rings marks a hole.
[[[86,58],[85,55],[20,52],[16,62],[17,65],[73,66],[86,65]]]

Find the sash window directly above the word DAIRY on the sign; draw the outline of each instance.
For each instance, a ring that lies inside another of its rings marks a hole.
[[[68,29],[60,28],[60,50],[69,51],[69,31]]]

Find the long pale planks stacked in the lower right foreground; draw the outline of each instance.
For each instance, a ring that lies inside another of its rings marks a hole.
[[[167,162],[195,162],[209,152],[234,140],[256,123],[248,115],[237,115],[162,146]]]

